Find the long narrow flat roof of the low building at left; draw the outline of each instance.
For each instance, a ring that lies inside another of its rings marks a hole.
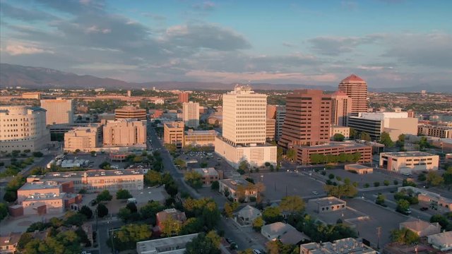
[[[40,179],[80,179],[82,176],[95,177],[95,176],[133,176],[143,175],[143,169],[121,169],[121,170],[104,170],[104,169],[92,169],[88,171],[67,171],[67,172],[51,172],[46,173],[44,176],[29,176]]]

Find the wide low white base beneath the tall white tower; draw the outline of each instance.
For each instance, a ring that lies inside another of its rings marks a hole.
[[[251,167],[263,167],[266,162],[276,165],[276,145],[249,144],[232,145],[222,137],[215,138],[215,153],[225,159],[232,167],[237,169],[240,162],[246,160]]]

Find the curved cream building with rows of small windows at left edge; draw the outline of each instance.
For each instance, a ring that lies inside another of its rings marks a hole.
[[[46,111],[41,107],[0,107],[0,151],[39,151],[50,142]]]

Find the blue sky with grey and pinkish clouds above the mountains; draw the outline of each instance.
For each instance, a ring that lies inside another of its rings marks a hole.
[[[452,1],[0,0],[0,62],[129,82],[452,85]],[[277,87],[277,86],[275,86]]]

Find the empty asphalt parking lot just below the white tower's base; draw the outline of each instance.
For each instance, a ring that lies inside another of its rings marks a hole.
[[[254,173],[250,174],[250,176],[256,183],[263,181],[265,184],[266,190],[263,193],[264,200],[280,200],[285,197],[286,193],[287,195],[299,195],[302,198],[314,198],[317,195],[326,195],[325,191],[323,191],[323,184],[311,179],[309,176],[292,172]]]

